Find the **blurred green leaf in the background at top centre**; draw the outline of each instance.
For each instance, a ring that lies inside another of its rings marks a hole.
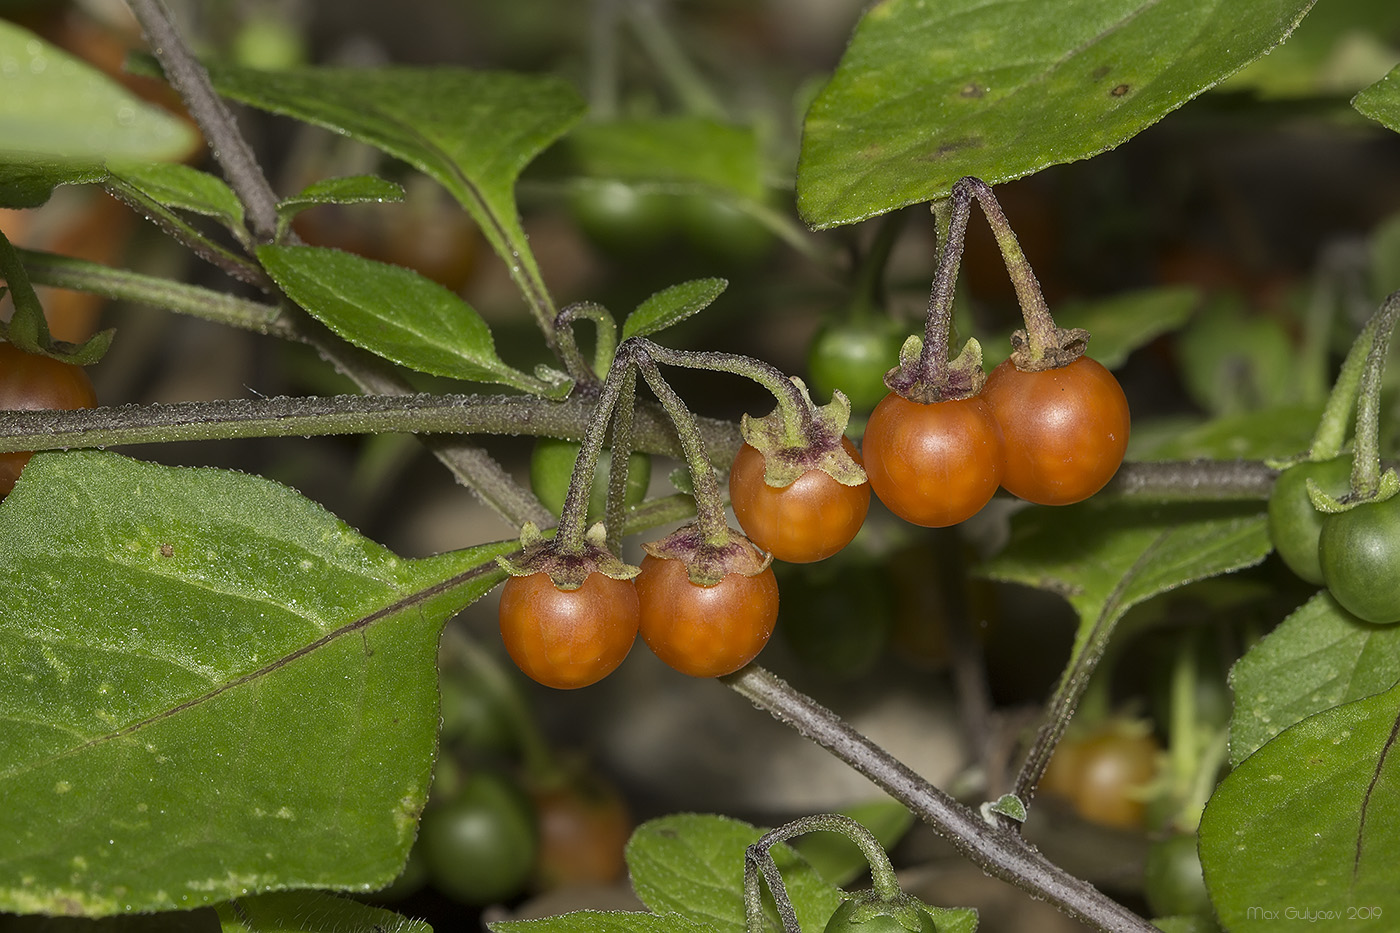
[[[561,143],[570,170],[589,178],[703,185],[757,200],[763,163],[752,129],[697,116],[580,123]]]

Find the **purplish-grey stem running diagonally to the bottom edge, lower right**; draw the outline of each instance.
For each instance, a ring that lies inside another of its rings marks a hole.
[[[832,710],[769,671],[750,664],[720,679],[879,785],[987,874],[1050,901],[1096,930],[1156,933],[1147,920],[1049,862],[1019,835],[988,825]]]

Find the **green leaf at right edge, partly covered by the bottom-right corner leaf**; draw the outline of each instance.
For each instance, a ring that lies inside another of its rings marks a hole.
[[[1294,723],[1400,682],[1400,625],[1361,622],[1323,590],[1254,644],[1229,679],[1238,765]]]

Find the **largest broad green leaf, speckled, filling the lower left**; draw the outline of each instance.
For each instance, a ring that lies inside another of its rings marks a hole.
[[[258,476],[35,455],[0,503],[0,911],[392,881],[440,629],[512,546],[403,560]]]

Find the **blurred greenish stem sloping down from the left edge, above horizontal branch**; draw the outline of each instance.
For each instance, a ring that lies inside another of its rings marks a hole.
[[[17,252],[35,284],[88,291],[116,301],[139,301],[154,308],[188,314],[284,340],[305,339],[293,325],[281,319],[281,308],[272,304],[248,301],[223,291],[182,284],[158,276],[113,269],[87,259],[34,249],[18,249]]]

